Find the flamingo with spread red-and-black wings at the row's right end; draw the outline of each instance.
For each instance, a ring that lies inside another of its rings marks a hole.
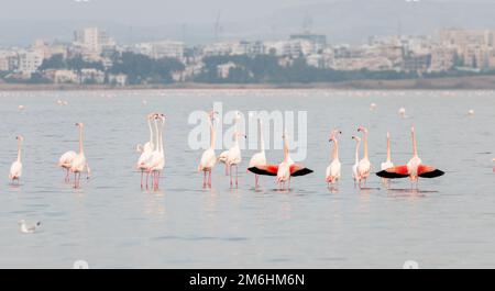
[[[411,183],[416,183],[419,178],[436,178],[444,175],[443,171],[436,169],[435,167],[422,165],[421,159],[418,156],[418,147],[416,144],[415,127],[410,128],[413,139],[413,157],[405,166],[397,166],[388,168],[386,170],[378,171],[376,175],[382,178],[396,179],[409,177]]]

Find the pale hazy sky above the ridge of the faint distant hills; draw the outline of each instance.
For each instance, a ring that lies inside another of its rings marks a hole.
[[[332,0],[0,0],[3,20],[111,20],[132,24],[234,21]]]

